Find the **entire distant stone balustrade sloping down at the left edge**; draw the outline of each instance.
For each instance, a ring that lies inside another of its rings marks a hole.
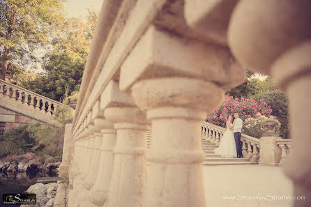
[[[56,108],[61,106],[60,102],[3,80],[0,80],[0,97],[2,107],[13,109],[15,112],[45,123],[52,120]]]

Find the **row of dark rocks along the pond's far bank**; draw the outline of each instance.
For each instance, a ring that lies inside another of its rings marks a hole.
[[[39,158],[34,153],[24,155],[11,155],[9,158],[0,159],[1,174],[15,174],[17,172],[26,172],[26,174],[57,174],[57,169],[61,162],[48,156]]]

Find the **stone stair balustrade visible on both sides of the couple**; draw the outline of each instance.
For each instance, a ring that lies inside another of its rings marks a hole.
[[[222,135],[227,129],[218,125],[202,122],[202,139],[219,145]],[[248,135],[241,135],[242,153],[245,158],[248,158],[251,162],[258,162],[259,160],[259,139],[250,137]]]

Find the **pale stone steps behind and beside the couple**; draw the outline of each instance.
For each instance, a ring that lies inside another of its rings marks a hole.
[[[253,164],[247,158],[222,158],[214,153],[214,149],[217,147],[215,143],[202,139],[202,149],[206,154],[203,165]]]

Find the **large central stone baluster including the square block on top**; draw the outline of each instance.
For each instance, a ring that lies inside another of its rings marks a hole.
[[[223,68],[224,62],[229,67]],[[202,120],[221,105],[225,88],[244,82],[244,74],[218,45],[185,40],[154,26],[139,39],[121,66],[120,89],[131,91],[152,124],[144,206],[205,206]]]

